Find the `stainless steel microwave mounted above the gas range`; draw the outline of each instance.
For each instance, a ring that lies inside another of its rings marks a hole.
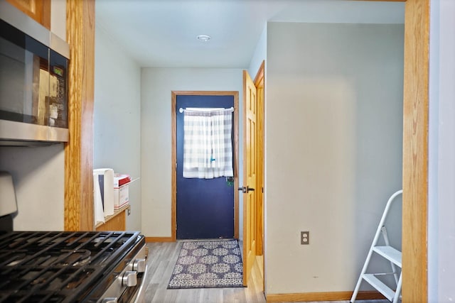
[[[0,145],[68,141],[68,43],[6,1],[0,18]]]

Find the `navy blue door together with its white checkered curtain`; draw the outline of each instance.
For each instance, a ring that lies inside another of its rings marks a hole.
[[[234,238],[234,97],[178,95],[177,239]]]

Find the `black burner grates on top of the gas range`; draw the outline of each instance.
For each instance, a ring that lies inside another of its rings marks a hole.
[[[1,234],[0,302],[80,302],[141,241],[139,231]]]

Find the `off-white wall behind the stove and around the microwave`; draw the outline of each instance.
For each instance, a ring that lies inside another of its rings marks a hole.
[[[66,40],[65,1],[51,1],[50,18],[51,31]],[[65,150],[62,143],[34,148],[0,146],[0,170],[13,176],[18,205],[14,230],[63,231]]]

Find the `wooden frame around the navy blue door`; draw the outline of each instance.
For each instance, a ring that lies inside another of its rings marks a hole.
[[[234,97],[234,238],[239,238],[239,92],[235,91],[172,91],[171,92],[171,125],[172,125],[172,154],[171,154],[171,241],[177,240],[177,96],[232,96]]]

